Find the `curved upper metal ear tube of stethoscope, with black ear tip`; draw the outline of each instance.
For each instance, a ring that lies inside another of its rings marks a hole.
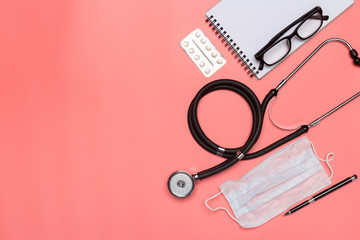
[[[345,46],[347,46],[347,47],[349,48],[349,50],[350,50],[350,56],[353,58],[354,63],[355,63],[357,66],[360,66],[360,58],[358,57],[358,53],[356,52],[355,49],[353,49],[353,48],[351,47],[351,45],[350,45],[347,41],[345,41],[345,40],[343,40],[343,39],[341,39],[341,38],[330,38],[330,39],[327,39],[327,40],[325,40],[324,42],[322,42],[302,63],[300,63],[299,66],[297,66],[297,68],[295,68],[294,71],[292,71],[292,72],[289,74],[289,76],[287,76],[284,80],[282,80],[282,81],[279,83],[279,85],[276,87],[276,90],[279,90],[282,86],[284,86],[284,84],[285,84],[292,76],[294,76],[294,74],[295,74],[297,71],[299,71],[300,68],[301,68],[302,66],[304,66],[305,63],[307,63],[307,61],[309,61],[310,58],[312,58],[312,56],[315,55],[315,53],[317,53],[317,52],[320,50],[320,48],[322,48],[325,44],[327,44],[327,43],[329,43],[329,42],[341,42],[341,43],[343,43]]]

